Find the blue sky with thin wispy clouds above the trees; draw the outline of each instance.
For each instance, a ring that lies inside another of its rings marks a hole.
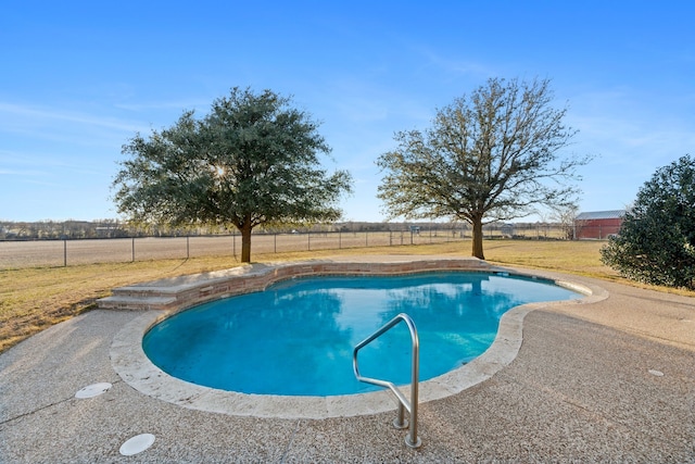
[[[323,122],[349,221],[381,221],[396,130],[490,77],[552,79],[579,130],[582,211],[622,209],[695,155],[692,1],[14,1],[0,14],[0,220],[117,216],[137,131],[271,89]]]

